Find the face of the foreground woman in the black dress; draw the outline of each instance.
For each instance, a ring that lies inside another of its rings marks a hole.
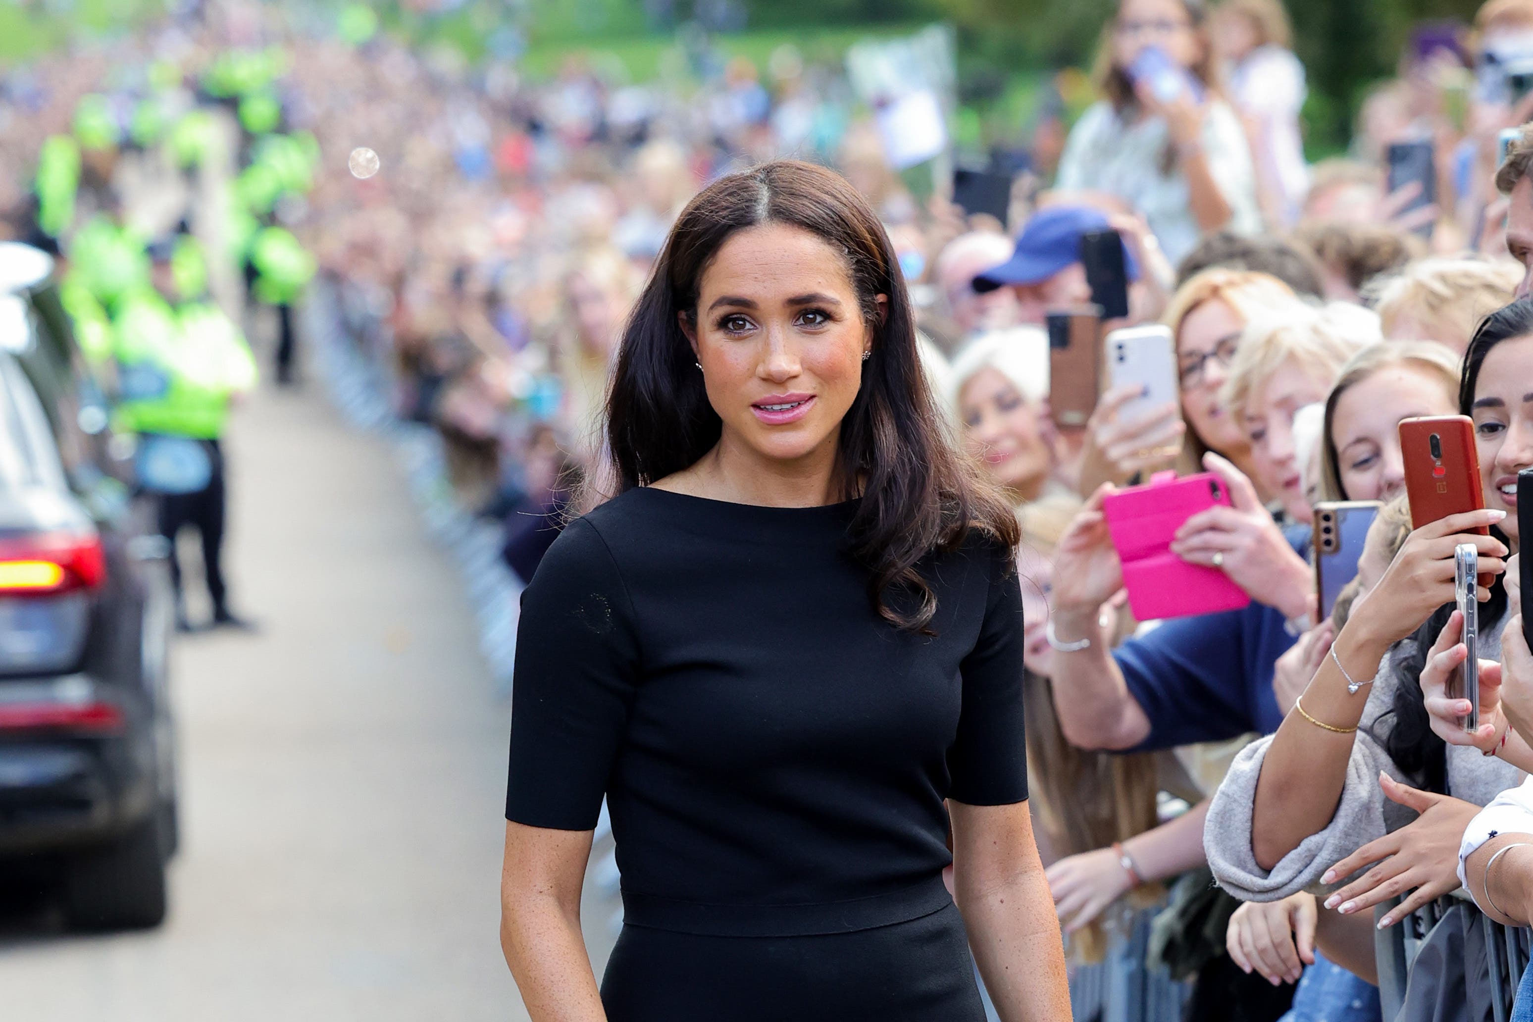
[[[724,420],[721,444],[773,461],[834,455],[872,349],[843,259],[806,230],[762,224],[731,234],[704,270],[696,325],[684,316],[682,329]]]

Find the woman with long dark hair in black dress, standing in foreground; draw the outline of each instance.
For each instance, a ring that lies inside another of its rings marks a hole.
[[[846,181],[780,161],[687,205],[607,444],[613,495],[517,640],[501,945],[532,1017],[978,1022],[975,959],[1004,1019],[1069,1017],[1016,519],[950,446]],[[598,993],[604,795],[624,929]]]

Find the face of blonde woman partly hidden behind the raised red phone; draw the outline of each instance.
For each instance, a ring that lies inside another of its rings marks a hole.
[[[1331,438],[1341,490],[1352,501],[1387,501],[1404,490],[1400,420],[1453,415],[1458,401],[1441,378],[1409,365],[1389,366],[1337,398]]]

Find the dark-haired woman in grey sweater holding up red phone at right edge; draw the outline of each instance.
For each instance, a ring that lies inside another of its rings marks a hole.
[[[1499,656],[1502,572],[1518,544],[1516,473],[1533,466],[1524,405],[1530,389],[1533,302],[1519,300],[1476,331],[1459,386],[1458,411],[1475,420],[1489,507],[1413,530],[1378,587],[1354,605],[1283,726],[1237,757],[1205,834],[1210,864],[1228,890],[1275,901],[1389,857],[1337,890],[1328,907],[1352,915],[1413,889],[1383,916],[1390,925],[1458,887],[1464,824],[1476,806],[1515,785],[1518,771],[1478,751],[1446,748],[1432,734],[1423,690],[1439,688],[1455,656],[1462,657],[1453,608],[1458,544],[1473,544],[1481,573],[1492,576],[1479,591],[1479,640],[1484,656]],[[1475,532],[1482,526],[1492,535]],[[1420,818],[1401,826],[1406,809]]]

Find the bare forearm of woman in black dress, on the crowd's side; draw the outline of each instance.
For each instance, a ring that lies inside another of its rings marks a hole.
[[[947,806],[955,898],[996,1011],[1004,1022],[1069,1019],[1064,941],[1027,803]]]

